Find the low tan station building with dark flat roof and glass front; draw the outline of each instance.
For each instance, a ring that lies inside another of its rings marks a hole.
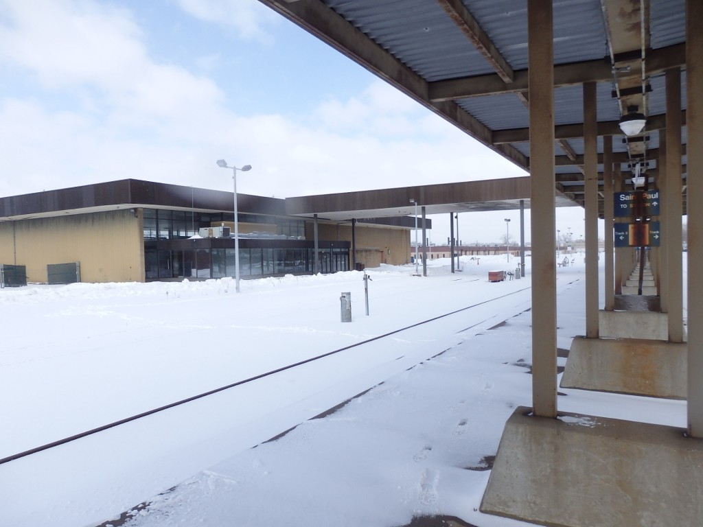
[[[242,278],[410,260],[412,218],[310,219],[285,202],[238,193]],[[233,208],[233,193],[136,179],[2,197],[0,264],[39,283],[233,276]]]

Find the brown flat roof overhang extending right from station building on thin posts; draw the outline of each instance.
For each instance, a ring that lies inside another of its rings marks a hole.
[[[285,213],[288,216],[312,217],[333,221],[412,216],[417,200],[425,207],[425,214],[450,212],[487,212],[520,209],[524,201],[529,209],[529,176],[518,178],[464,181],[439,185],[362,190],[360,192],[288,197]],[[579,204],[555,192],[557,207],[579,207]]]

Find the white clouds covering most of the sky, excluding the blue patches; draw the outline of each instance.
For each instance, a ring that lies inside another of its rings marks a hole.
[[[11,64],[39,82],[26,94],[0,88],[3,195],[122,178],[229,190],[223,157],[252,164],[240,192],[276,197],[524,175],[381,80],[297,120],[243,117],[227,106],[231,87],[155,61],[126,9],[40,1],[0,0],[0,75]],[[179,5],[201,20],[260,25],[250,1]]]

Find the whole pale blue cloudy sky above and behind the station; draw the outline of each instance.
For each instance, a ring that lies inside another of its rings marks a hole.
[[[231,190],[223,158],[274,197],[527,175],[257,0],[0,0],[0,141],[0,195]],[[519,240],[517,211],[461,214],[460,239],[499,242],[506,218]]]

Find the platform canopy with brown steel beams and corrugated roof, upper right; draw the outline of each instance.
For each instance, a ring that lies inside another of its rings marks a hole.
[[[529,171],[527,1],[260,1]],[[638,164],[656,174],[665,70],[683,67],[685,86],[685,1],[554,0],[553,22],[556,186],[583,204],[582,85],[596,84],[601,178],[603,136],[626,186]],[[646,117],[630,137],[628,113]]]

